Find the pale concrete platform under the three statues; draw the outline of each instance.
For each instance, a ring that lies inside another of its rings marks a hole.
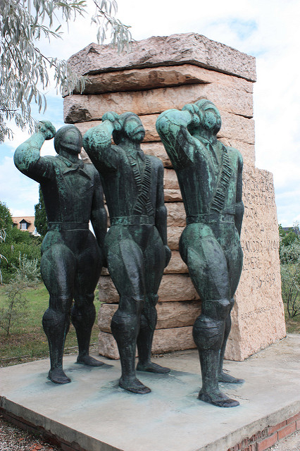
[[[91,369],[74,364],[74,355],[64,357],[72,378],[66,385],[46,379],[48,360],[0,369],[2,412],[68,443],[65,450],[225,451],[300,411],[300,335],[244,362],[225,362],[225,369],[246,380],[220,384],[240,402],[231,409],[197,400],[195,350],[154,359],[172,369],[168,375],[138,373],[152,390],[148,395],[119,388],[120,362],[102,360],[105,366]]]

